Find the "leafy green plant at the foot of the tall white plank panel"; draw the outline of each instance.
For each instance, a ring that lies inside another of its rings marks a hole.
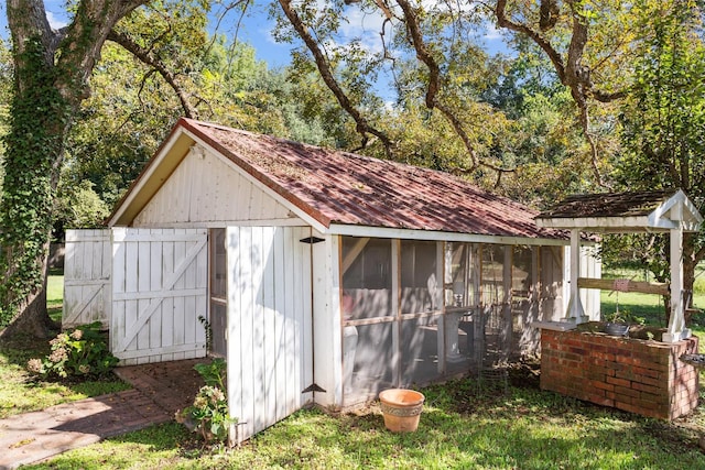
[[[177,415],[177,419],[193,426],[193,431],[198,433],[206,442],[224,442],[228,438],[230,425],[238,422],[230,417],[228,400],[223,392],[226,390],[225,360],[216,358],[210,363],[196,364],[194,369],[206,384],[198,391],[193,405]]]

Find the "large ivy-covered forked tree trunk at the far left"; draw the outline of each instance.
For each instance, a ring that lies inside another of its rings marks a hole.
[[[43,0],[8,0],[14,97],[0,200],[2,335],[46,336],[52,209],[66,136],[100,50],[115,24],[145,0],[79,0],[74,20],[52,30]]]

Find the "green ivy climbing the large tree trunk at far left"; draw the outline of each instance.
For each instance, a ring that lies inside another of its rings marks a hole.
[[[68,106],[53,86],[55,70],[44,65],[39,36],[25,42],[15,70],[11,130],[4,136],[4,179],[0,200],[0,328],[10,324],[26,298],[42,286],[57,163]]]

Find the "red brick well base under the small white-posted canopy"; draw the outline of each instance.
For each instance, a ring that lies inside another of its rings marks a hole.
[[[676,343],[541,330],[541,389],[643,416],[674,419],[697,406],[698,373]]]

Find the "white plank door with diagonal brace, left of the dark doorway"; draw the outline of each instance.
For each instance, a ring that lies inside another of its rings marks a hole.
[[[208,233],[112,229],[110,345],[121,364],[206,356]]]

